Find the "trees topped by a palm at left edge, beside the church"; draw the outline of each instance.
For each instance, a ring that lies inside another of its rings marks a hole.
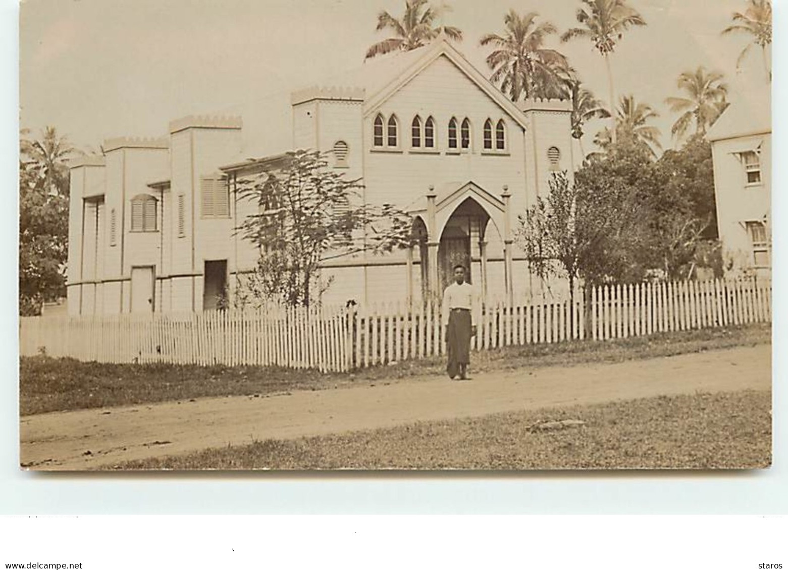
[[[19,160],[19,314],[41,314],[65,296],[69,167],[74,149],[54,127],[38,139],[22,131]]]

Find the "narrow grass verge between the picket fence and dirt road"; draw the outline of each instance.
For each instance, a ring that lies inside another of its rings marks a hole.
[[[476,352],[471,357],[471,368],[474,372],[488,372],[622,362],[769,342],[770,325],[749,325],[620,340],[527,344]],[[315,370],[261,366],[100,364],[35,356],[20,359],[20,414],[342,388],[430,377],[444,373],[444,366],[444,359],[433,357],[373,366],[355,373],[321,374]]]

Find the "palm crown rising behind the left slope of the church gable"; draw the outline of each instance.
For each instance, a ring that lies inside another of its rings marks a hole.
[[[434,8],[428,0],[405,0],[405,13],[397,20],[385,10],[377,14],[377,31],[391,29],[395,37],[377,42],[366,50],[365,59],[383,55],[392,51],[410,51],[426,46],[440,35],[457,42],[462,41],[463,32],[453,26],[435,26],[441,13],[447,11],[446,6]]]

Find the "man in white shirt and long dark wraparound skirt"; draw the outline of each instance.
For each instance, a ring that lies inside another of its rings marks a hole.
[[[460,380],[466,380],[470,337],[476,334],[476,296],[474,288],[465,282],[465,267],[462,265],[454,267],[454,283],[444,291],[441,315],[446,327],[446,372],[452,380],[458,375]]]

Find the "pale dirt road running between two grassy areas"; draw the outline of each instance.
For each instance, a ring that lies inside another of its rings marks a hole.
[[[759,345],[616,364],[502,371],[464,382],[435,377],[267,398],[231,396],[54,412],[21,418],[20,462],[31,469],[91,469],[258,439],[770,387],[771,346]]]

